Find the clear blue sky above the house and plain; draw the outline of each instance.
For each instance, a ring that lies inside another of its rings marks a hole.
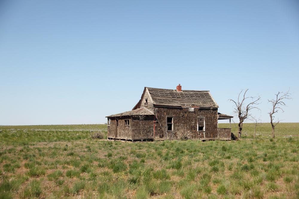
[[[219,112],[241,89],[290,87],[299,122],[299,2],[0,1],[0,124],[105,123],[145,86],[210,90]],[[237,121],[237,119],[235,119]]]

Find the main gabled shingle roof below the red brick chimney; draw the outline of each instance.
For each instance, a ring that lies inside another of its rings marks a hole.
[[[154,105],[219,108],[209,91],[177,91],[173,89],[145,87],[146,89],[149,91]]]

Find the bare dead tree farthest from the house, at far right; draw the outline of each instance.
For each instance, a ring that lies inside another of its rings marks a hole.
[[[268,100],[268,102],[272,103],[272,110],[271,112],[269,112],[268,114],[270,115],[270,123],[271,123],[271,127],[272,127],[272,137],[275,137],[275,126],[281,121],[279,119],[277,119],[276,121],[274,121],[274,116],[273,114],[277,113],[279,111],[279,109],[283,111],[283,109],[281,108],[281,106],[286,106],[284,100],[290,100],[291,98],[291,94],[289,93],[290,89],[287,92],[278,92],[277,94],[275,94],[275,98],[272,100]]]

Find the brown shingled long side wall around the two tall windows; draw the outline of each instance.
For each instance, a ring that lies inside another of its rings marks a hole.
[[[190,138],[217,138],[217,108],[188,108],[155,107],[159,122],[156,123],[156,138],[175,139],[190,135]],[[166,116],[173,116],[174,131],[167,131]],[[197,131],[197,117],[205,117],[205,131]],[[161,127],[162,126],[162,127]]]

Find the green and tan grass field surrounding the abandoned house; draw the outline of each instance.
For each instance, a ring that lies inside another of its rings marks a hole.
[[[242,140],[207,142],[90,138],[106,125],[0,129],[0,198],[299,198],[299,123],[275,139],[269,124],[255,139],[244,124]]]

